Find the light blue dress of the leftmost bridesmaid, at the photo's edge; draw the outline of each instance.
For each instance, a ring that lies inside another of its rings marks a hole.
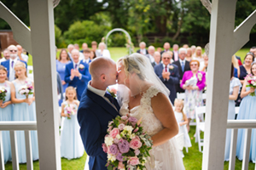
[[[7,82],[0,83],[0,87],[3,87],[7,90],[5,101],[3,102],[5,103],[10,100],[10,87]],[[5,108],[0,107],[0,121],[1,122],[11,121],[12,112],[13,112],[13,105],[7,105]],[[3,158],[4,158],[4,163],[6,163],[7,161],[12,160],[9,131],[2,131],[2,139],[3,139]]]

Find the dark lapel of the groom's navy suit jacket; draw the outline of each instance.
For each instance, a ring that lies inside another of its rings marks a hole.
[[[116,117],[119,115],[119,112],[116,111],[112,105],[108,103],[105,99],[103,99],[101,96],[94,94],[91,92],[88,88],[86,89],[87,96],[92,99],[94,102],[96,102],[98,105],[100,105],[105,111],[107,111],[110,115],[113,117]]]

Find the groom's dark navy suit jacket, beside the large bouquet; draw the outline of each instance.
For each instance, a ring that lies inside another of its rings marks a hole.
[[[79,105],[78,121],[84,149],[90,156],[90,170],[107,170],[105,165],[108,159],[102,150],[102,143],[107,134],[108,122],[116,116],[119,116],[119,112],[108,101],[88,88],[84,90]]]

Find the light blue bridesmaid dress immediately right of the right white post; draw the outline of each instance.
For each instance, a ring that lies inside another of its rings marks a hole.
[[[233,94],[235,87],[241,88],[241,82],[238,78],[234,77],[230,80],[230,95]],[[239,94],[239,92],[238,92]],[[229,111],[228,111],[228,120],[235,120],[235,100],[229,100]],[[231,129],[226,131],[226,141],[225,141],[225,155],[224,161],[230,161],[230,140],[231,140]]]

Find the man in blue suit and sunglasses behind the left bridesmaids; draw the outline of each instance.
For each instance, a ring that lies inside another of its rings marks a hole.
[[[20,59],[18,57],[18,48],[15,45],[10,45],[8,47],[8,50],[9,50],[9,59],[6,61],[3,61],[1,65],[3,65],[6,68],[9,82],[12,82],[15,80],[15,64]],[[20,60],[20,61],[25,63],[26,65],[25,61],[23,60]]]

